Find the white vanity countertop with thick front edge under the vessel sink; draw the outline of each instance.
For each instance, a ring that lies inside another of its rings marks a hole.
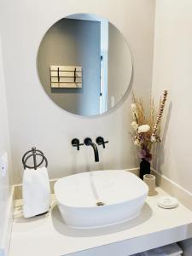
[[[137,218],[95,230],[68,228],[54,199],[49,213],[28,219],[22,217],[22,201],[16,201],[9,256],[127,256],[192,237],[192,212],[181,203],[174,209],[158,207],[157,198],[167,194],[157,192],[148,196]]]

